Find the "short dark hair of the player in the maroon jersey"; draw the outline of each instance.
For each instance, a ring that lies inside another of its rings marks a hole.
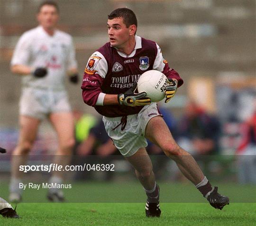
[[[135,13],[128,8],[119,8],[115,9],[108,15],[109,19],[114,19],[114,18],[123,18],[124,24],[126,27],[129,27],[131,25],[135,25],[137,27],[137,18]]]

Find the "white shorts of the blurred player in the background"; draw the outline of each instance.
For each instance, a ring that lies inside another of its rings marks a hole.
[[[50,113],[71,112],[67,92],[47,88],[24,87],[19,114],[44,119]]]

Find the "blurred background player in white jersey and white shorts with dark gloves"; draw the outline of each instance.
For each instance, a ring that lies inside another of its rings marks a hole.
[[[13,152],[10,182],[10,201],[21,200],[18,188],[27,155],[37,136],[40,122],[47,117],[53,125],[59,146],[54,162],[68,164],[74,145],[74,122],[64,78],[78,82],[77,62],[72,37],[56,29],[59,8],[55,2],[42,2],[38,8],[39,26],[25,32],[19,39],[12,60],[11,71],[21,75],[22,95],[19,103],[20,133]],[[61,184],[63,176],[54,173],[50,183]],[[49,200],[64,200],[62,191],[49,190]]]

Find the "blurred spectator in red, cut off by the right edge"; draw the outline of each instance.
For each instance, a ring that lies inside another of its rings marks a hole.
[[[238,180],[256,184],[256,111],[242,123],[240,132],[242,139],[236,153],[239,155]]]

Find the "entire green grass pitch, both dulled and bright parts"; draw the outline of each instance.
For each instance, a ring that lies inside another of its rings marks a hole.
[[[72,183],[64,190],[69,203],[48,203],[46,189],[26,190],[17,207],[20,219],[0,217],[0,225],[102,226],[241,226],[256,225],[256,187],[218,184],[230,205],[213,209],[191,183],[160,184],[160,218],[145,216],[146,195],[138,182]],[[0,196],[8,197],[8,182],[1,181]]]

